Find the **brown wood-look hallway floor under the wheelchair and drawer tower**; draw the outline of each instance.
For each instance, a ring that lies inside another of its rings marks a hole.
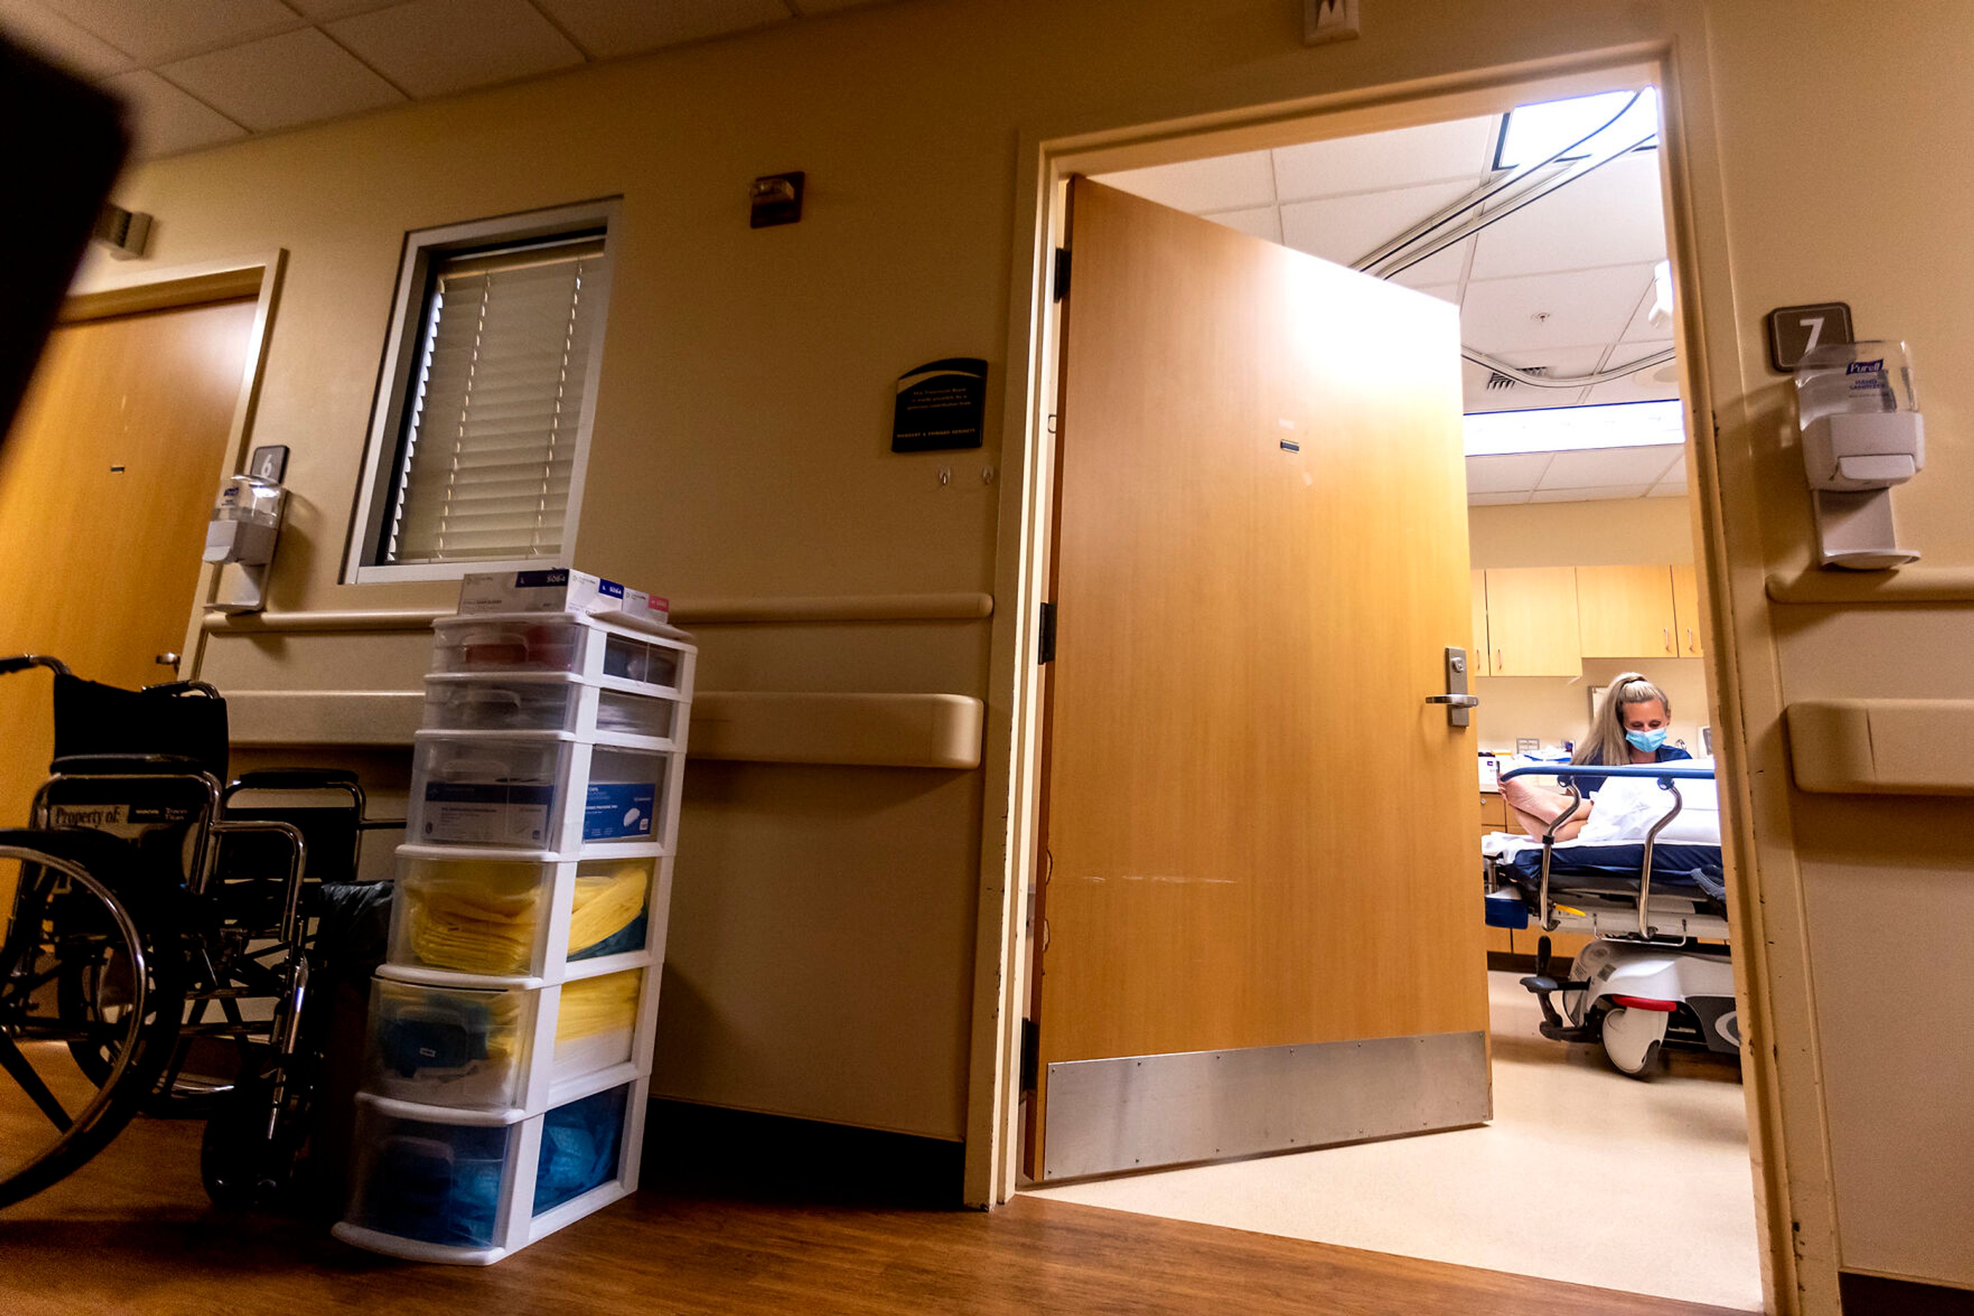
[[[213,1213],[197,1138],[197,1125],[140,1121],[81,1174],[0,1211],[0,1310],[1719,1312],[1060,1202],[914,1209],[758,1176],[640,1192],[490,1269],[409,1265],[320,1223]]]

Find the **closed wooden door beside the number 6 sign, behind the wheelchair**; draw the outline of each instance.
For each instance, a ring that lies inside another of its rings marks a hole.
[[[245,298],[47,339],[0,460],[0,653],[111,685],[178,679],[158,655],[186,639],[253,322]],[[45,673],[0,681],[0,827],[28,823],[47,777],[47,691]]]

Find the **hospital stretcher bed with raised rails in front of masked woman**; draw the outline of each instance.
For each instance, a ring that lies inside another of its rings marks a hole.
[[[1727,939],[1719,815],[1696,815],[1708,821],[1662,841],[1684,811],[1680,781],[1711,781],[1713,769],[1597,768],[1593,775],[1646,779],[1666,793],[1664,813],[1652,811],[1642,837],[1615,842],[1556,841],[1581,811],[1573,777],[1591,775],[1583,766],[1516,768],[1502,781],[1524,775],[1559,777],[1573,803],[1542,837],[1486,839],[1486,921],[1597,937],[1565,973],[1554,973],[1550,939],[1542,937],[1536,973],[1522,979],[1542,1006],[1542,1036],[1601,1042],[1611,1063],[1632,1077],[1650,1077],[1666,1044],[1739,1054],[1727,945],[1696,941]]]

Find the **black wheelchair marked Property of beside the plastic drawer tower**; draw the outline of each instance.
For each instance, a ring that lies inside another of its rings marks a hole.
[[[138,1113],[205,1117],[211,1200],[268,1206],[322,1079],[312,981],[342,953],[326,929],[381,912],[389,884],[355,882],[361,839],[403,821],[367,817],[353,773],[229,777],[209,685],[124,691],[0,659],[36,667],[53,673],[55,758],[30,827],[0,831],[18,868],[12,892],[0,874],[0,1207]]]

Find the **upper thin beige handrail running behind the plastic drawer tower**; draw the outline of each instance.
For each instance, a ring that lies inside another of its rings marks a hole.
[[[211,635],[298,631],[424,631],[452,612],[207,612]],[[675,600],[677,625],[744,625],[778,621],[979,621],[993,616],[991,594],[825,594],[813,598]]]

